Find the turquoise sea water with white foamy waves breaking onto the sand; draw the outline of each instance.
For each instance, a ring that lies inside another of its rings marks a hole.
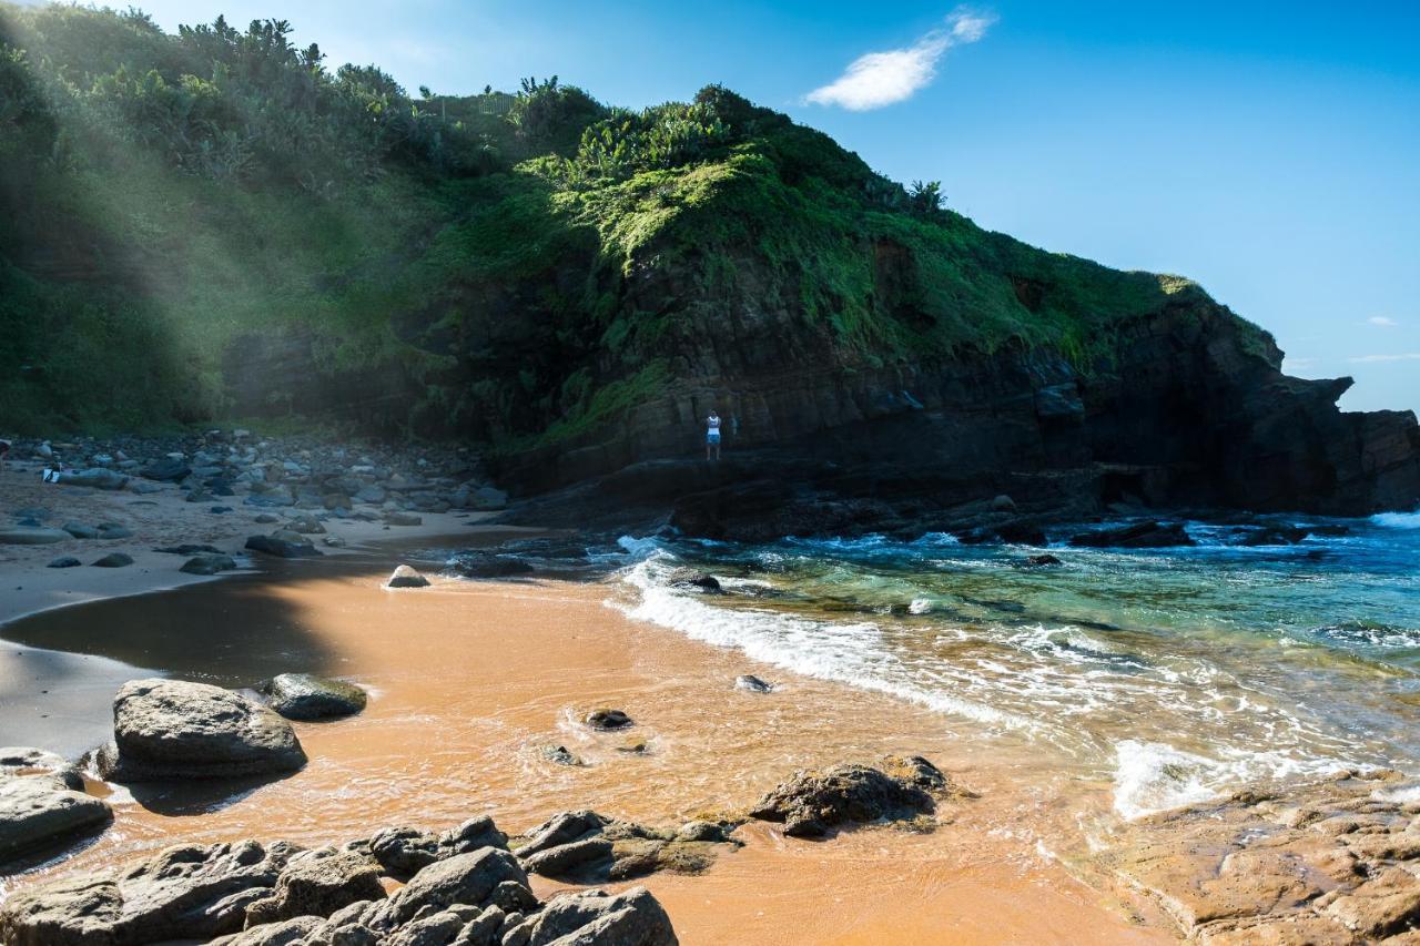
[[[1051,567],[941,534],[626,538],[616,605],[929,706],[983,746],[1058,753],[1112,780],[1125,817],[1340,766],[1417,770],[1420,514],[1299,523],[1348,531],[1250,548],[1189,523],[1196,547],[1055,541]],[[674,587],[684,567],[727,594]]]

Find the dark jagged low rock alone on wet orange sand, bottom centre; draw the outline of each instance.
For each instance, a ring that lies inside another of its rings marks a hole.
[[[926,768],[946,777],[926,760]],[[750,810],[751,818],[778,821],[784,834],[798,838],[818,838],[828,830],[849,822],[906,820],[936,810],[926,768],[906,766],[903,776],[895,777],[869,766],[834,766],[824,770],[801,770],[770,791]]]

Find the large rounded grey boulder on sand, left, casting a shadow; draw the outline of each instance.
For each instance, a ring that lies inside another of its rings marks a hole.
[[[240,693],[183,680],[131,680],[114,697],[114,741],[99,753],[111,781],[229,778],[295,771],[305,751],[291,724]]]

